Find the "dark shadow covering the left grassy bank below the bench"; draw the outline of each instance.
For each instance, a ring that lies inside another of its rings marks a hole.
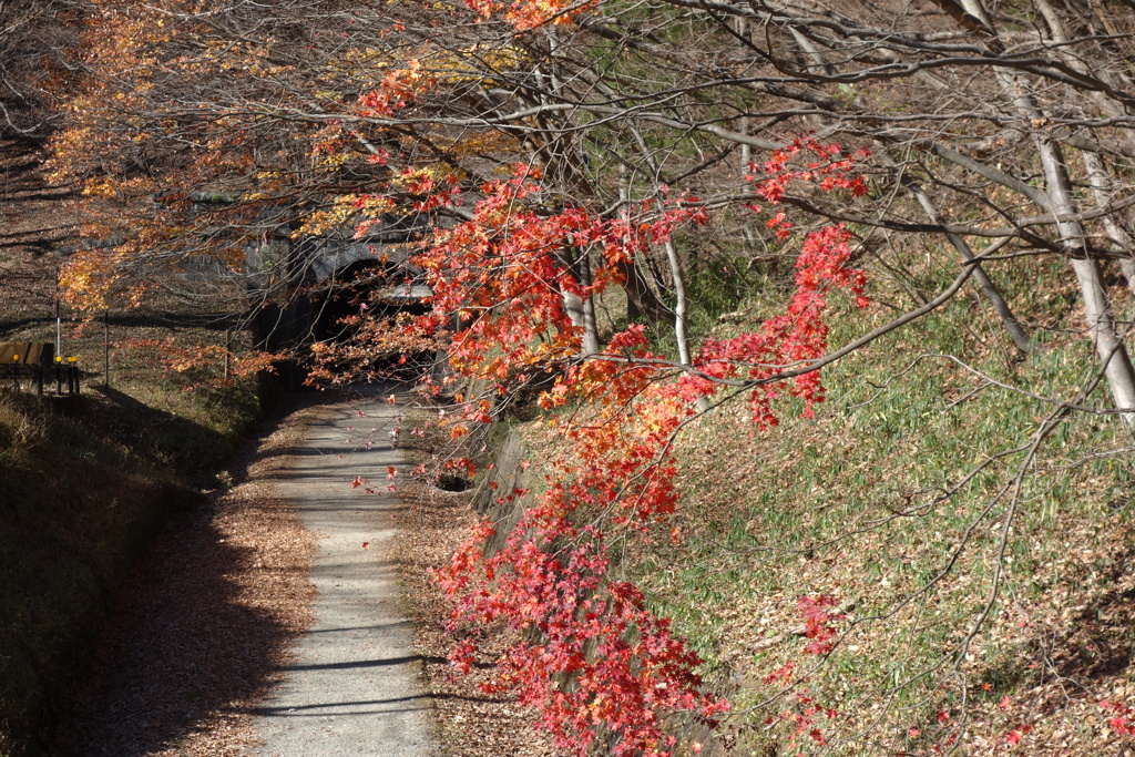
[[[54,721],[129,565],[204,499],[116,436],[128,410],[0,392],[0,752]]]

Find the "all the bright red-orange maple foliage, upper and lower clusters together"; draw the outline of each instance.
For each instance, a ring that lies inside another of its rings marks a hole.
[[[808,154],[822,160],[790,167]],[[851,175],[852,167],[838,146],[801,140],[765,163],[763,179],[750,180],[773,204],[792,182],[855,195],[864,185]],[[705,213],[693,197],[642,203],[614,221],[580,208],[541,213],[539,179],[535,169],[518,166],[511,178],[486,185],[473,218],[439,230],[418,258],[435,293],[426,321],[429,328],[452,331],[449,353],[457,370],[505,385],[540,365],[570,365],[541,402],[553,407],[585,399],[588,407],[562,423],[572,452],[554,464],[546,493],[504,547],[482,556],[484,541],[494,533],[491,524],[482,523],[438,571],[453,602],[451,630],[466,636],[453,662],[468,671],[476,629],[503,624],[521,640],[503,656],[489,688],[515,690],[539,712],[539,724],[561,747],[582,755],[597,739],[612,737],[616,755],[669,755],[675,740],[663,727],[667,713],[692,712],[712,723],[728,703],[701,690],[696,672],[700,659],[672,634],[670,621],[646,608],[639,589],[611,575],[607,545],[674,512],[673,437],[718,381],[755,381],[750,403],[756,423],[776,423],[772,402],[777,376],[824,354],[830,292],[846,289],[863,306],[865,277],[849,264],[850,232],[824,227],[804,238],[797,291],[785,313],[750,334],[708,339],[695,370],[667,379],[665,361],[647,351],[638,325],[615,335],[603,354],[579,360],[581,334],[564,310],[563,295],[594,296],[619,280],[620,262],[670,239],[682,224],[704,222]],[[774,221],[771,227],[779,235],[790,236],[783,215]],[[583,286],[568,253],[587,249],[602,250],[602,255],[595,284]],[[824,398],[818,371],[797,377],[789,392],[804,399],[810,415]],[[487,420],[480,406],[466,419]],[[801,600],[806,654],[831,650],[831,622],[838,617],[833,603],[827,597]],[[812,738],[822,739],[816,716],[833,714],[810,700],[800,707],[794,722],[809,724]]]

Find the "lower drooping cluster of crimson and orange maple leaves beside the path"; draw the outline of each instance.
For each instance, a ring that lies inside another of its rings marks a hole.
[[[505,547],[480,561],[491,533],[482,524],[439,571],[454,630],[503,622],[524,634],[504,656],[496,688],[515,688],[556,743],[580,755],[603,733],[617,735],[616,755],[670,754],[675,741],[662,729],[664,713],[712,721],[728,708],[699,690],[700,659],[670,621],[647,611],[634,586],[611,579],[606,533],[595,524],[606,514],[612,528],[642,528],[673,512],[675,470],[665,447],[681,415],[658,412],[669,409],[672,386],[649,387],[620,423],[570,429],[578,462],[556,465]],[[459,667],[472,650],[459,648]]]

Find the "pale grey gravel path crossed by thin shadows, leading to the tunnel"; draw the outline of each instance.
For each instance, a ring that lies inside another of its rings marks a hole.
[[[439,754],[393,555],[406,507],[387,491],[388,466],[404,468],[392,446],[401,410],[388,393],[322,407],[293,463],[277,473],[279,495],[319,538],[317,620],[285,666],[284,684],[258,710],[253,729],[263,746],[253,754]]]

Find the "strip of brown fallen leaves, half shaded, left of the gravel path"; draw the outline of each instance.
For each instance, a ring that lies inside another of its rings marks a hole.
[[[173,422],[160,411],[134,410],[142,414],[131,422]],[[43,754],[141,757],[197,732],[233,732],[280,680],[286,650],[310,624],[313,539],[286,502],[257,488],[266,455],[253,449],[232,469],[252,483],[175,513],[131,570],[90,672],[60,705]]]

